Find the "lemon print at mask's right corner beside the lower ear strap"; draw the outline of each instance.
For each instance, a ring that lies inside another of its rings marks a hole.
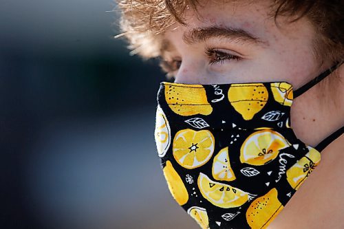
[[[314,168],[320,163],[321,155],[319,151],[312,147],[307,147],[310,151],[294,164],[287,171],[287,180],[295,190],[305,181],[305,179],[312,173]]]

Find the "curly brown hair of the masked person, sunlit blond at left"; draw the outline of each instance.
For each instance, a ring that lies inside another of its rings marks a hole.
[[[131,54],[144,58],[160,56],[160,38],[175,22],[186,24],[186,8],[197,12],[200,0],[117,0],[121,10],[120,28],[129,41]],[[216,1],[216,0],[212,0]],[[243,1],[243,0],[227,0]],[[247,1],[247,0],[246,0]],[[225,3],[226,0],[217,1]],[[343,0],[271,0],[272,17],[290,17],[290,23],[306,17],[316,34],[314,51],[322,60],[343,60],[344,1]]]

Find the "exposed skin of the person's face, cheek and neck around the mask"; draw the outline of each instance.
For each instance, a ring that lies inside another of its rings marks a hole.
[[[308,83],[333,63],[315,58],[312,25],[302,18],[286,23],[279,18],[277,27],[269,16],[269,2],[239,4],[207,1],[199,8],[200,17],[186,10],[187,26],[175,23],[164,35],[162,57],[174,69],[175,83],[219,84],[287,81],[294,89]],[[250,32],[259,44],[237,39],[211,38],[188,43],[183,34],[206,26],[239,28]],[[204,50],[212,47],[239,60],[224,60],[211,65]],[[322,64],[321,64],[322,63]],[[344,124],[344,67],[336,70],[305,94],[295,99],[291,109],[292,128],[297,137],[316,146]],[[329,82],[335,80],[335,83]],[[330,86],[326,86],[330,85]],[[321,164],[303,183],[269,228],[344,228],[344,136],[337,138],[321,153]]]

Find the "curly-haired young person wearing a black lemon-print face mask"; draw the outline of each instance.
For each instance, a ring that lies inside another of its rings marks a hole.
[[[155,140],[202,228],[344,228],[343,1],[119,6],[132,52],[174,78]]]

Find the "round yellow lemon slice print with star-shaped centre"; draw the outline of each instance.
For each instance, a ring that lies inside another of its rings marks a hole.
[[[211,131],[184,129],[175,134],[173,157],[184,168],[197,168],[211,159],[214,144],[215,139]]]

